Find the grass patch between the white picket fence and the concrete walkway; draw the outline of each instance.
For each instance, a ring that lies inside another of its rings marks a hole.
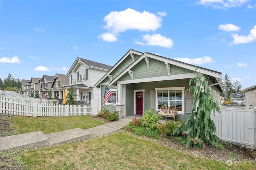
[[[104,123],[90,119],[90,116],[63,116],[63,117],[10,117],[17,134],[42,131],[55,133],[74,128],[88,129]]]

